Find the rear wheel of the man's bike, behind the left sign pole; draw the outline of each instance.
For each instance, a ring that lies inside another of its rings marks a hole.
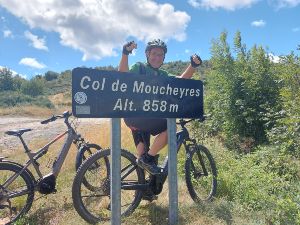
[[[110,220],[110,174],[106,165],[101,164],[110,155],[110,149],[102,150],[88,158],[77,170],[72,186],[73,204],[78,214],[88,223],[98,223]],[[92,178],[97,182],[98,190],[90,193],[84,188],[83,178],[89,177],[89,167],[99,161],[102,167],[98,168],[98,177]],[[128,176],[125,177],[125,174]],[[121,186],[124,183],[145,183],[144,172],[136,165],[136,157],[130,152],[121,149]],[[139,205],[142,190],[121,189],[121,216],[130,215]],[[129,199],[129,200],[128,200]]]

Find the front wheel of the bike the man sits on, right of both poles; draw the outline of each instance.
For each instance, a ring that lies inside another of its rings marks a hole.
[[[217,191],[217,168],[209,150],[192,146],[185,162],[186,185],[195,202],[211,201]]]

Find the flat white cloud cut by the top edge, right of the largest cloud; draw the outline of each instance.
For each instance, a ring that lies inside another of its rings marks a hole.
[[[248,8],[259,0],[188,0],[188,3],[195,8],[236,10]]]

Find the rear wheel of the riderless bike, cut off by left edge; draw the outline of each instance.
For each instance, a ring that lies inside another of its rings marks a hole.
[[[0,224],[14,223],[22,215],[26,214],[32,206],[34,200],[34,180],[32,174],[27,169],[21,172],[22,169],[21,165],[14,162],[0,162]],[[9,177],[18,173],[20,175],[8,187],[4,188],[4,182]],[[20,191],[27,193],[15,197],[9,196]],[[13,215],[9,215],[11,213]]]

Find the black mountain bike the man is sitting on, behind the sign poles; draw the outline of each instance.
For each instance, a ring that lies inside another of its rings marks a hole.
[[[177,152],[182,144],[186,152],[185,180],[190,196],[195,202],[210,201],[216,194],[217,169],[212,155],[203,145],[191,139],[185,125],[191,120],[179,120],[180,131],[177,136]],[[110,149],[93,154],[77,170],[72,187],[75,209],[89,223],[110,219],[110,167],[106,160]],[[100,165],[95,168],[95,164]],[[136,163],[136,157],[127,150],[121,149],[121,215],[130,215],[139,205],[146,192],[155,195],[161,193],[168,176],[168,157],[166,156],[158,175],[145,179],[145,171]],[[94,186],[87,189],[84,180]]]

